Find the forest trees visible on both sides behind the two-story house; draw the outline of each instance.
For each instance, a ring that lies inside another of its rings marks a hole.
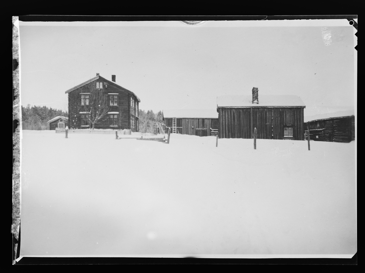
[[[46,130],[47,121],[56,116],[68,117],[67,111],[48,108],[46,106],[22,106],[22,128],[23,130]],[[139,131],[143,133],[156,134],[157,123],[162,123],[162,112],[154,113],[152,110],[145,112],[139,110]]]

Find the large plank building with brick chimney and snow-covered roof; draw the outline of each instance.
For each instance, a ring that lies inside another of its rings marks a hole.
[[[305,104],[295,95],[250,95],[217,97],[219,138],[304,139]]]

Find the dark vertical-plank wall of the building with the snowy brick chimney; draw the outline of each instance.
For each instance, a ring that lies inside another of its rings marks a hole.
[[[304,107],[218,108],[220,138],[304,139]],[[293,137],[284,138],[284,128]]]

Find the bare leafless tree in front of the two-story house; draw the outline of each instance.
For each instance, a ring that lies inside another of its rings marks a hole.
[[[81,109],[85,114],[90,128],[94,129],[95,124],[108,118],[109,111],[108,97],[104,94],[103,89],[98,89],[95,83],[82,87],[81,92]],[[84,94],[82,94],[84,93]]]

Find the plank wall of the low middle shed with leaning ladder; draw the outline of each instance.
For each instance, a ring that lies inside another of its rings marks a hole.
[[[172,118],[164,118],[164,123],[166,127],[171,127],[172,130]],[[197,131],[196,129],[206,129]],[[200,135],[203,133],[205,135],[210,136],[212,129],[218,129],[218,119],[215,118],[177,118],[176,119],[176,132],[178,131],[180,134],[184,135]]]

